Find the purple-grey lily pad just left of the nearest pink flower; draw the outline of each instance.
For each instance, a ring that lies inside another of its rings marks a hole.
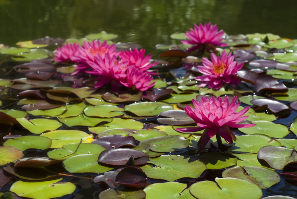
[[[169,118],[158,118],[159,123],[168,125],[186,125],[196,123],[192,118],[189,117],[183,110],[169,110],[160,113],[160,116]]]

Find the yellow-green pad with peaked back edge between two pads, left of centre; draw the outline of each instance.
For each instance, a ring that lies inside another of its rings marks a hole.
[[[113,118],[94,118],[88,117],[85,114],[80,114],[77,117],[59,118],[59,121],[67,126],[96,126],[99,123],[110,123]]]

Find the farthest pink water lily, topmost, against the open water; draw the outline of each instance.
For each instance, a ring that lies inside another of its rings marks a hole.
[[[211,23],[205,23],[204,26],[200,23],[199,27],[194,24],[194,30],[190,28],[190,32],[186,31],[185,36],[189,40],[181,41],[183,44],[194,44],[193,47],[189,48],[188,52],[194,51],[200,48],[202,44],[206,44],[207,49],[214,49],[212,46],[227,46],[225,43],[221,43],[223,40],[224,31],[218,31],[217,24],[211,25]],[[210,46],[212,45],[212,46]]]

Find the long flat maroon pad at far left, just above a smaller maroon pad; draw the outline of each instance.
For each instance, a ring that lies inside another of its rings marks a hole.
[[[51,64],[44,63],[44,62],[30,62],[25,64],[20,64],[13,67],[19,73],[31,73],[31,72],[46,72],[55,70],[55,67]]]

